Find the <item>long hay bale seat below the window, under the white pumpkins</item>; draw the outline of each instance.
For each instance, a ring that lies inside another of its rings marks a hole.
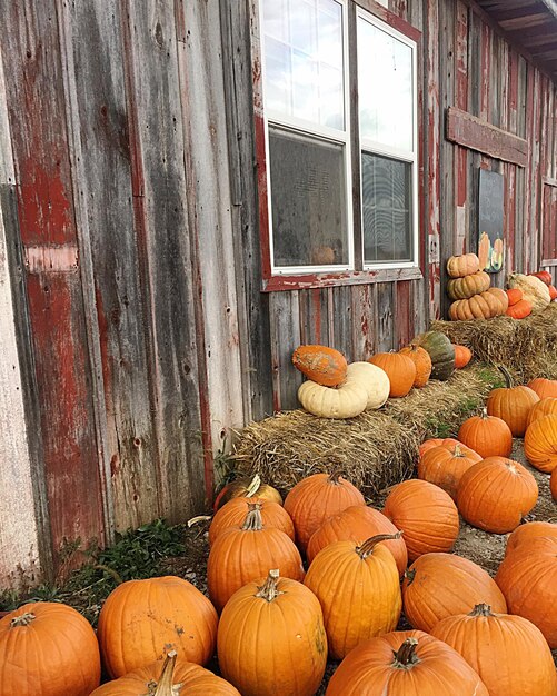
[[[346,420],[317,418],[301,409],[252,422],[238,434],[232,453],[238,475],[259,474],[281,493],[318,471],[341,470],[367,497],[411,476],[419,445],[456,432],[476,412],[499,377],[485,366],[432,380],[377,411]]]

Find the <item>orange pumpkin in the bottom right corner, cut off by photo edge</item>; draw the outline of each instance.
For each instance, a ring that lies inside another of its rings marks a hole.
[[[521,616],[497,614],[478,604],[469,614],[448,616],[431,635],[455,648],[478,673],[489,696],[554,696],[557,676],[549,647]],[[521,659],[528,655],[528,659]]]

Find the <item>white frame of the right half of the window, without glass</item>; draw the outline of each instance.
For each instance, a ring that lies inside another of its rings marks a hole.
[[[379,268],[392,269],[392,268],[417,268],[419,266],[419,217],[418,217],[418,66],[417,66],[417,54],[418,54],[418,46],[416,41],[408,38],[400,31],[397,31],[394,27],[390,27],[386,22],[382,22],[380,19],[371,14],[370,12],[366,12],[366,10],[358,8],[356,10],[356,41],[358,41],[358,22],[362,20],[372,24],[380,31],[388,33],[397,41],[405,43],[411,50],[411,70],[412,70],[412,150],[400,150],[398,148],[394,148],[390,146],[386,146],[384,143],[377,142],[375,140],[370,140],[369,138],[364,138],[360,132],[358,133],[358,141],[360,146],[360,162],[362,152],[369,152],[370,155],[379,155],[389,157],[391,159],[396,159],[398,161],[407,162],[411,165],[411,189],[410,189],[410,206],[411,206],[411,248],[412,248],[412,258],[409,261],[374,261],[366,264],[365,251],[364,251],[364,177],[360,176],[360,200],[361,200],[361,255],[364,259],[364,270],[377,270]],[[356,50],[358,50],[358,43],[356,43]],[[359,80],[360,76],[358,76]],[[360,165],[361,170],[361,165]]]

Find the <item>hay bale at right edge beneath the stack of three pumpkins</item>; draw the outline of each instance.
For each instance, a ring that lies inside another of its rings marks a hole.
[[[521,381],[557,378],[557,305],[525,319],[496,317],[470,321],[434,321],[454,344],[468,346],[479,360],[505,365]]]

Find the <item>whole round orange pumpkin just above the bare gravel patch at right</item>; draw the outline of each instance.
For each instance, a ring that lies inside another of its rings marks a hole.
[[[536,505],[538,485],[518,461],[487,457],[460,479],[457,506],[466,521],[485,531],[513,531]]]

